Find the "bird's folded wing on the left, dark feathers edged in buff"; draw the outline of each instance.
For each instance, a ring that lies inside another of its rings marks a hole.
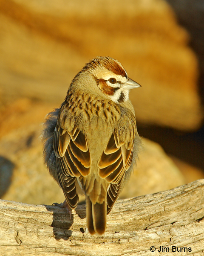
[[[91,172],[91,155],[87,140],[77,128],[72,131],[59,128],[54,131],[54,153],[56,155],[57,178],[71,209],[77,207],[77,178]]]

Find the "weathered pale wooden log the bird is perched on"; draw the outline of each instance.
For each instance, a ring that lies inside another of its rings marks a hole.
[[[0,218],[2,256],[198,256],[204,253],[204,179],[118,201],[103,236],[88,233],[85,205],[70,220],[60,207],[1,200]]]

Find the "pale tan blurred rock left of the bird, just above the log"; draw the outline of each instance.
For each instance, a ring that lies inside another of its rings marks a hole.
[[[14,164],[11,185],[2,199],[27,204],[64,201],[62,189],[48,174],[42,160],[39,125],[18,128],[0,140],[0,155]]]

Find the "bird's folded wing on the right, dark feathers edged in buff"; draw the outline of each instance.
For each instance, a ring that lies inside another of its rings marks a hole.
[[[116,126],[98,161],[99,177],[110,183],[107,192],[107,214],[119,197],[126,172],[131,166],[135,131],[136,122],[127,122],[127,127]]]

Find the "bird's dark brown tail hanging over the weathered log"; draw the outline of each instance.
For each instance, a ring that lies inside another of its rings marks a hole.
[[[107,204],[106,198],[102,202],[92,203],[89,196],[86,197],[86,219],[88,231],[91,235],[95,233],[102,235],[106,228]]]

